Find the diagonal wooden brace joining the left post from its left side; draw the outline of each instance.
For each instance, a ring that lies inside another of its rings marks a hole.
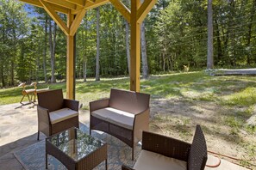
[[[69,28],[66,27],[66,24],[64,21],[59,18],[59,15],[57,15],[54,11],[54,9],[51,7],[51,5],[43,0],[39,0],[41,4],[44,6],[44,9],[47,11],[48,15],[50,15],[53,18],[53,21],[55,21],[60,29],[66,34],[69,34]]]

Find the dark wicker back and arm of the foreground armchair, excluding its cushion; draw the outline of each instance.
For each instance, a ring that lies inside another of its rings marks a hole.
[[[186,161],[188,170],[203,170],[207,161],[207,147],[200,125],[197,125],[192,144],[143,131],[142,149]],[[131,169],[122,166],[122,170]]]

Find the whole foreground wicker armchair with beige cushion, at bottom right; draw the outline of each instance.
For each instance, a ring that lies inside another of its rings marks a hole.
[[[192,144],[172,137],[143,131],[142,150],[132,169],[188,169],[203,170],[207,161],[207,147],[203,131],[197,125]]]

